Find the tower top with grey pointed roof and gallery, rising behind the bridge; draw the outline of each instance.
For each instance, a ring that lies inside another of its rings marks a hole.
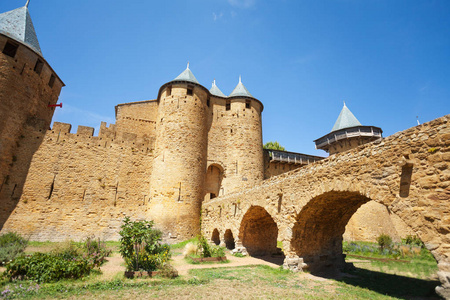
[[[342,108],[331,132],[314,141],[316,149],[322,149],[330,155],[344,152],[382,138],[380,127],[363,126],[348,109]]]

